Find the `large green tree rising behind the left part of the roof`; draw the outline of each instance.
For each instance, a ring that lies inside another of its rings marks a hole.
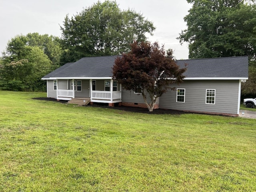
[[[153,23],[134,10],[121,10],[115,1],[97,2],[69,18],[62,31],[62,64],[84,56],[122,54],[134,41],[145,41]]]

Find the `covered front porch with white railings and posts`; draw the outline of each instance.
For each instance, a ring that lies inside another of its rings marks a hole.
[[[122,102],[121,85],[112,79],[56,79],[54,83],[56,84],[56,98],[58,100],[90,98],[90,102]]]

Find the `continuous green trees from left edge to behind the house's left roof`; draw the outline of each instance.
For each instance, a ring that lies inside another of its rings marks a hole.
[[[152,35],[153,22],[115,1],[96,2],[64,18],[62,36],[29,33],[12,38],[0,58],[0,89],[45,91],[42,76],[86,56],[122,54],[134,41]]]

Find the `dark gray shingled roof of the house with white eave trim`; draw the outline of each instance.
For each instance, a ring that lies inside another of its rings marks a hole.
[[[67,63],[42,79],[111,79],[112,67],[118,56],[84,57]],[[248,56],[176,60],[183,68],[186,80],[248,79]]]

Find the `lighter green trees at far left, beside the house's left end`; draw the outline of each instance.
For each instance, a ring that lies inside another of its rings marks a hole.
[[[42,76],[56,69],[61,48],[58,39],[38,33],[12,38],[0,58],[0,88],[44,91]]]

